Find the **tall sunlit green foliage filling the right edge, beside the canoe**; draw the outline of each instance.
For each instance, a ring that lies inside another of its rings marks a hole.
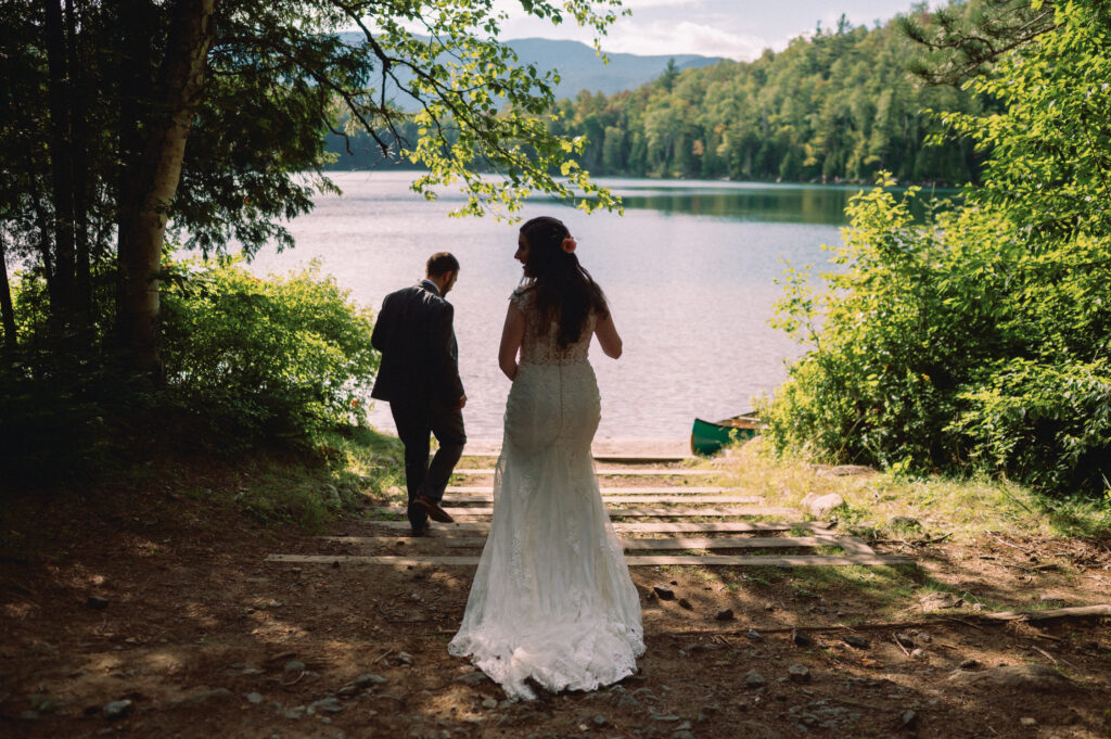
[[[913,190],[862,193],[824,288],[789,271],[775,324],[810,350],[763,408],[774,448],[1111,488],[1111,23],[1054,11],[970,84],[1004,113],[945,117],[992,151],[982,188],[920,223]]]

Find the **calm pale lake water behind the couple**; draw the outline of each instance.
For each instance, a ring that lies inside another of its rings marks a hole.
[[[251,269],[288,272],[312,259],[352,298],[376,311],[382,298],[423,276],[426,259],[451,251],[461,263],[456,307],[468,436],[500,439],[509,380],[498,369],[507,299],[521,280],[518,226],[449,218],[454,193],[428,202],[409,190],[412,172],[333,172],[343,196],[317,198],[289,224],[297,248],[262,250]],[[602,396],[600,439],[678,439],[695,416],[748,410],[787,376],[799,353],[768,326],[781,289],[780,260],[824,262],[843,210],[860,188],[707,181],[599,180],[625,213],[594,213],[534,199],[523,216],[562,219],[582,264],[605,290],[624,354],[594,347]],[[389,408],[371,422],[393,432]]]

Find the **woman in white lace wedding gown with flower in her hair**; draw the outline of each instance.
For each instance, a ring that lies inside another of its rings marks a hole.
[[[554,218],[521,227],[524,282],[510,297],[499,363],[513,381],[494,471],[493,520],[448,650],[510,698],[593,690],[637,670],[640,599],[594,477],[600,400],[592,336],[621,356],[601,289]],[[518,352],[520,361],[518,362]]]

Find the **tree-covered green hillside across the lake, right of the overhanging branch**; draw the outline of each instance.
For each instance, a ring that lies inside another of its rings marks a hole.
[[[585,134],[582,166],[635,177],[975,181],[968,142],[929,146],[928,109],[977,112],[983,101],[927,87],[908,71],[917,49],[894,21],[847,21],[745,63],[669,71],[614,96],[580,92],[559,104],[556,130]]]

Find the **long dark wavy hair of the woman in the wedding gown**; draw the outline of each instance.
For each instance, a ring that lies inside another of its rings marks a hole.
[[[559,346],[567,348],[582,337],[591,310],[599,318],[610,314],[605,294],[590,272],[579,263],[573,252],[563,251],[563,240],[570,238],[563,221],[541,216],[527,221],[521,234],[529,244],[526,274],[537,291],[537,308],[547,326],[559,321]]]

